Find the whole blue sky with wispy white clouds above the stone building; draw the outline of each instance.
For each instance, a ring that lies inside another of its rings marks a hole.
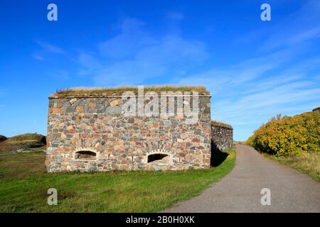
[[[235,140],[320,106],[320,1],[13,0],[0,19],[6,136],[46,134],[48,95],[66,87],[203,84]]]

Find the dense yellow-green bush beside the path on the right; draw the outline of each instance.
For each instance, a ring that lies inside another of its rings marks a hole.
[[[272,118],[254,132],[247,144],[276,156],[320,153],[320,113]]]

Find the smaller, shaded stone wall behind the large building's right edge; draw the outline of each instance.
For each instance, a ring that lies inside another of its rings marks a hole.
[[[229,150],[233,148],[233,128],[211,124],[212,152]]]

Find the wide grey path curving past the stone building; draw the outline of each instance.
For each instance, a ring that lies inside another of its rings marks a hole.
[[[263,188],[271,191],[270,206],[261,204]],[[229,175],[163,212],[320,212],[320,184],[238,145],[236,165]]]

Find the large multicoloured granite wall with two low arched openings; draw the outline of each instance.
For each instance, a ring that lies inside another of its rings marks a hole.
[[[198,121],[186,123],[188,94],[175,100],[174,116],[126,116],[122,107],[137,96],[119,94],[49,97],[46,170],[188,170],[210,167],[210,93],[198,96]],[[145,96],[143,97],[145,98]],[[160,102],[161,99],[159,99]],[[150,99],[143,103],[147,105]],[[159,104],[159,109],[160,109]],[[161,110],[159,110],[161,111]]]

